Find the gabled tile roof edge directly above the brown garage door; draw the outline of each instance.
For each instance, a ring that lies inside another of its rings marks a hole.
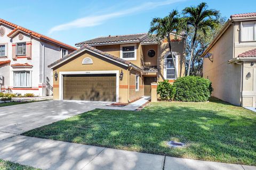
[[[72,53],[66,55],[66,56],[63,57],[62,59],[59,59],[59,60],[53,62],[53,63],[50,64],[48,67],[51,68],[51,67],[55,66],[56,64],[60,63],[61,61],[70,58],[71,56],[77,54],[78,52],[80,52],[80,51],[82,51],[82,50],[84,50],[84,49],[87,49],[87,50],[93,51],[93,52],[95,52],[95,53],[104,55],[104,56],[106,56],[106,57],[109,58],[109,59],[115,60],[115,61],[117,61],[117,62],[121,62],[121,63],[126,64],[126,65],[131,65],[131,66],[133,66],[133,67],[135,67],[135,68],[141,70],[141,68],[139,68],[139,67],[136,66],[135,64],[131,63],[130,61],[126,61],[126,60],[123,60],[123,59],[121,59],[121,58],[118,58],[117,56],[114,56],[114,55],[111,55],[111,54],[109,54],[109,53],[100,51],[100,50],[98,50],[97,48],[94,48],[94,47],[92,47],[92,46],[90,46],[90,45],[84,45],[84,46],[82,46],[82,47],[79,48],[78,50],[76,50],[76,51],[74,51],[74,52],[72,52]]]

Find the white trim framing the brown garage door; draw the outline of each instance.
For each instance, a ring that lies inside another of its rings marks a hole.
[[[119,102],[119,71],[60,71],[59,72],[59,99],[63,100],[63,75],[91,75],[91,74],[116,74],[116,102]]]

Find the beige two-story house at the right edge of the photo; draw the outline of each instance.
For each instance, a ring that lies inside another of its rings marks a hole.
[[[256,13],[231,15],[202,55],[212,95],[243,107],[256,104]]]

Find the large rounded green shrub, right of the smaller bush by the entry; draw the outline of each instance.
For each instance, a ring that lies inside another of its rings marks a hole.
[[[196,76],[180,77],[175,80],[175,101],[202,102],[208,101],[213,91],[209,79]]]

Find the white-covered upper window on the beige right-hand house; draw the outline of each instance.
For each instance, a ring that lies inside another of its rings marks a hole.
[[[256,22],[243,22],[241,26],[241,41],[256,41]]]

